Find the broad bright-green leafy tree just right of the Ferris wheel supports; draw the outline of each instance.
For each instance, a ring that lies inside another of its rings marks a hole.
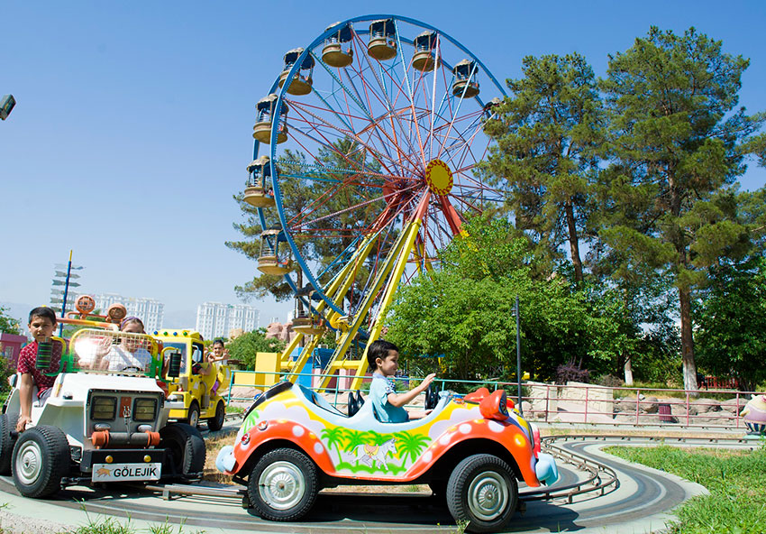
[[[550,379],[576,359],[601,366],[589,349],[602,319],[561,276],[542,277],[533,246],[506,220],[477,219],[442,253],[442,271],[399,290],[386,339],[405,359],[442,356],[447,375],[475,380],[515,373],[515,296],[521,301],[524,370]]]

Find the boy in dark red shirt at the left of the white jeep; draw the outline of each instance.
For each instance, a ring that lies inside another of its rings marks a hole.
[[[50,388],[56,381],[55,376],[49,373],[58,373],[59,362],[63,346],[53,343],[50,353],[50,365],[47,369],[38,369],[35,366],[37,347],[42,342],[50,341],[53,331],[56,329],[56,313],[47,306],[34,308],[29,312],[29,331],[34,341],[22,349],[19,354],[19,362],[16,370],[21,374],[19,386],[19,401],[21,401],[21,414],[16,423],[16,430],[23,432],[27,423],[32,422],[32,388],[37,386],[37,399],[40,403],[48,401]]]

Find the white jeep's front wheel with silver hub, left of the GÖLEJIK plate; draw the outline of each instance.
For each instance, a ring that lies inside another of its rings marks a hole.
[[[24,430],[14,446],[16,489],[39,499],[57,493],[69,472],[69,444],[60,428],[41,425]]]

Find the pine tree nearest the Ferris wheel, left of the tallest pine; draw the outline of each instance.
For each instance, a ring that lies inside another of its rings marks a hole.
[[[590,185],[597,174],[602,109],[596,78],[577,53],[524,58],[524,78],[493,108],[485,132],[490,148],[483,170],[506,190],[515,227],[533,236],[541,256],[561,257],[569,243],[575,281],[583,280],[579,242],[587,231]]]

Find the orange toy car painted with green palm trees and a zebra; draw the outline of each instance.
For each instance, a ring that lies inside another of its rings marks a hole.
[[[517,480],[540,486],[558,478],[538,429],[507,409],[514,404],[505,391],[433,397],[428,417],[382,423],[370,402],[348,417],[315,391],[280,382],[253,403],[216,466],[247,485],[244,504],[264,519],[302,518],[322,487],[428,483],[476,532],[511,519]]]

